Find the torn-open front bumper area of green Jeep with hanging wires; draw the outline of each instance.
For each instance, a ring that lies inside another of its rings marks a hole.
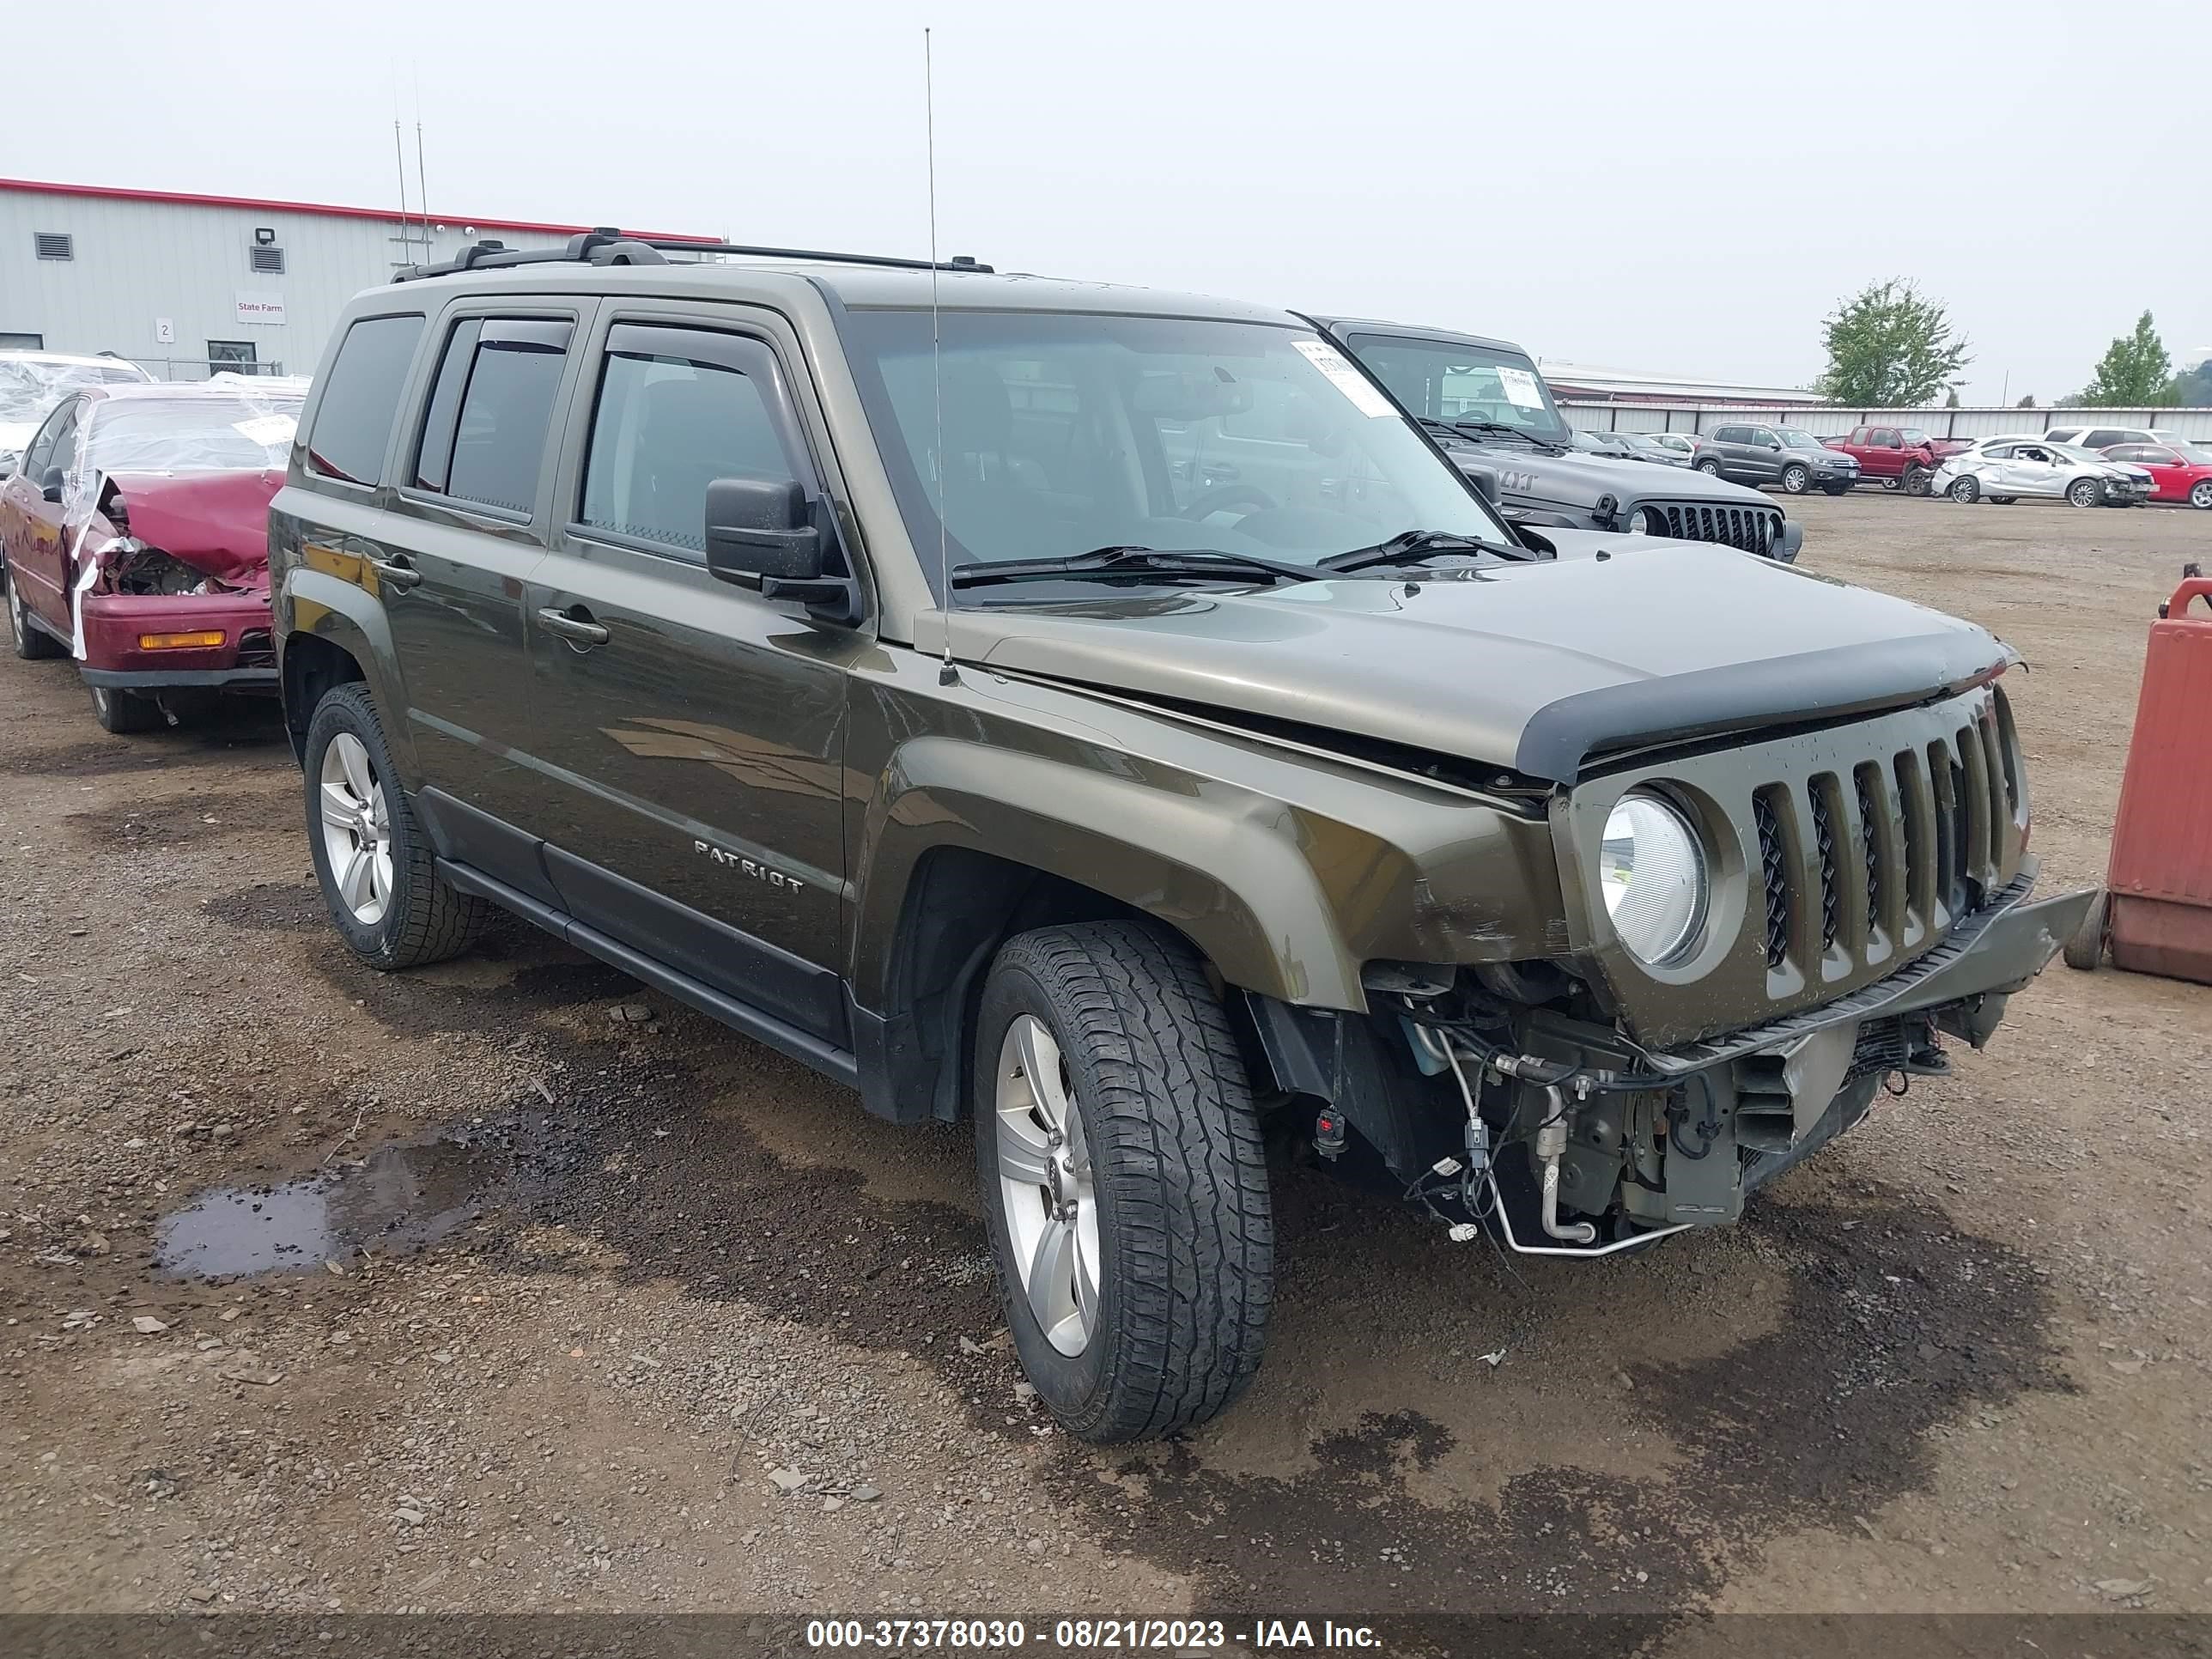
[[[1604,1254],[1739,1221],[1750,1192],[1865,1117],[1882,1079],[1947,1073],[1942,1035],[1989,1042],[2093,898],[2031,900],[2031,883],[1882,980],[1674,1048],[1564,998],[1502,1002],[1482,969],[1376,975],[1365,1018],[1245,1002],[1279,1095],[1316,1108],[1323,1159],[1347,1157],[1349,1126],[1385,1190],[1455,1237],[1489,1221],[1513,1250]]]

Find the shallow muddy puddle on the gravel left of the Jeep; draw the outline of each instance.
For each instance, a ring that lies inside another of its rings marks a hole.
[[[155,1272],[252,1279],[356,1252],[422,1250],[544,1188],[564,1159],[544,1119],[394,1141],[292,1181],[204,1192],[155,1230]]]

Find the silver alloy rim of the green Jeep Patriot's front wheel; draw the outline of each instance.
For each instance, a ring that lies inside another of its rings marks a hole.
[[[1091,1141],[1051,1029],[1018,1015],[998,1048],[998,1186],[1022,1296],[1066,1356],[1099,1318],[1099,1212]]]

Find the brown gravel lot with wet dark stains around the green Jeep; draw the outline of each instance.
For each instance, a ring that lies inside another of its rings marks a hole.
[[[2044,883],[2095,880],[2212,518],[1792,511],[2024,653]],[[0,661],[4,1608],[2212,1610],[2208,989],[2053,967],[1635,1261],[1281,1168],[1259,1385],[1099,1453],[1018,1385],[964,1128],[522,927],[372,975],[299,818],[272,723],[108,739]]]

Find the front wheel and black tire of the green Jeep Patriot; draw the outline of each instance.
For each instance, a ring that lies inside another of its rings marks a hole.
[[[1009,940],[975,1022],[975,1170],[1022,1371],[1084,1440],[1228,1409],[1274,1292],[1267,1161],[1197,953],[1152,922]]]

